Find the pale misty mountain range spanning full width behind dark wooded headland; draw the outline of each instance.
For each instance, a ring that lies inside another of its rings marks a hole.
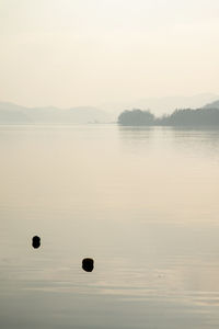
[[[150,109],[155,115],[171,113],[175,109],[219,109],[219,100],[212,94],[196,97],[172,97],[160,99],[145,99],[135,103],[93,106],[78,106],[71,109],[26,107],[13,103],[0,102],[0,124],[88,124],[117,122],[124,110]],[[205,105],[207,104],[207,105]],[[104,110],[102,110],[104,109]],[[120,109],[120,110],[119,110]]]

